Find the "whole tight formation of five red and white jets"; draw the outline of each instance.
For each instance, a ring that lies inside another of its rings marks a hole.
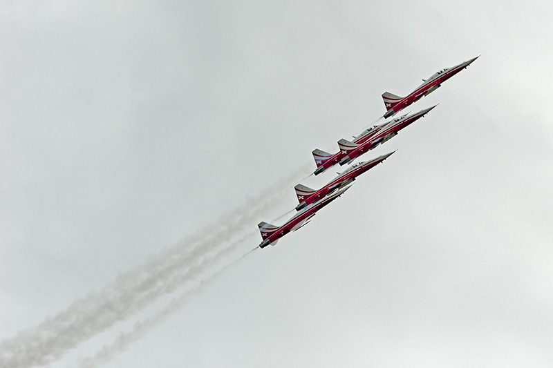
[[[473,61],[478,59],[478,57],[474,57],[473,59],[451,68],[445,68],[435,72],[429,79],[422,79],[423,83],[406,97],[399,97],[389,92],[384,93],[382,99],[384,99],[384,105],[387,109],[383,116],[384,119],[393,117],[407,106],[429,95],[429,93],[439,88],[444,81],[453,77],[453,75],[456,75],[461,70],[466,69]],[[340,139],[338,141],[339,151],[337,153],[328,153],[318,148],[313,150],[312,155],[317,165],[317,169],[313,174],[319,175],[336,164],[343,166],[353,163],[357,157],[395,137],[400,130],[413,124],[413,122],[416,122],[421,117],[424,117],[424,115],[427,115],[436,106],[437,105],[425,108],[418,111],[418,113],[408,113],[371,128],[366,128],[359,133],[359,135],[353,137],[352,140]],[[308,224],[317,211],[346,193],[359,175],[381,164],[385,159],[393,155],[393,153],[395,153],[395,151],[380,155],[366,162],[353,164],[347,168],[346,171],[338,173],[337,177],[317,190],[303,184],[294,186],[299,202],[295,207],[297,213],[281,226],[275,226],[263,221],[260,222],[258,227],[263,241],[259,244],[259,247],[265,248],[265,246],[277,244],[284,235],[292,231],[297,231]]]

